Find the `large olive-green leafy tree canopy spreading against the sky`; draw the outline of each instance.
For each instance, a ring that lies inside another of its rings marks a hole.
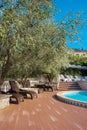
[[[51,21],[51,0],[21,0],[0,19],[1,78],[46,73],[51,80],[69,63],[67,36],[74,40],[80,16]],[[54,23],[54,24],[53,24]]]

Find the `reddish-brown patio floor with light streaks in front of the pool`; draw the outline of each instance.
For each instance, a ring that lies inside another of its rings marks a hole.
[[[87,109],[65,104],[54,92],[0,110],[0,130],[87,130]]]

